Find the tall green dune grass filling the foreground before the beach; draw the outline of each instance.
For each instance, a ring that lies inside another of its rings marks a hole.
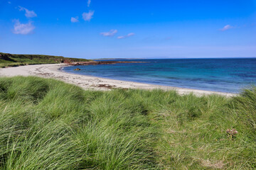
[[[256,88],[198,97],[0,78],[0,129],[0,169],[255,169]]]

